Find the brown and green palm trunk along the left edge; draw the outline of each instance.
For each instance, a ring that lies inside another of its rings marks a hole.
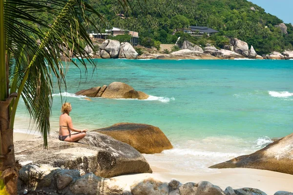
[[[13,130],[9,129],[8,61],[4,34],[4,1],[0,0],[0,194],[16,195],[18,169],[16,168]]]

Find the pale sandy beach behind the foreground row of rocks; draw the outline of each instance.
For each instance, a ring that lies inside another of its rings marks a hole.
[[[30,139],[36,136],[32,134],[14,133],[14,140]],[[230,186],[233,189],[245,187],[256,188],[268,195],[273,195],[277,191],[293,192],[293,175],[289,174],[244,168],[219,169],[217,173],[211,174],[185,173],[178,172],[177,170],[169,171],[158,168],[162,167],[158,163],[160,162],[150,162],[150,167],[153,170],[152,174],[131,174],[113,178],[119,183],[126,183],[129,189],[133,183],[146,178],[155,178],[163,182],[169,182],[172,178],[175,178],[183,184],[187,182],[198,183],[200,181],[209,181],[213,185],[219,186],[222,190]]]

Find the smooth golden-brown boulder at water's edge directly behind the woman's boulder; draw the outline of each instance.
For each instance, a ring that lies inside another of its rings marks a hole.
[[[163,150],[173,148],[165,134],[158,127],[152,125],[117,123],[93,131],[127,143],[144,154],[161,153]]]

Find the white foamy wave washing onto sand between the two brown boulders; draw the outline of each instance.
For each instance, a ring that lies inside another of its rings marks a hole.
[[[204,157],[236,157],[236,156],[242,156],[246,155],[243,153],[225,153],[225,152],[211,152],[211,151],[196,151],[192,149],[171,149],[171,150],[164,150],[162,152],[163,154],[168,154],[168,155],[180,155],[180,156],[185,156],[185,155],[192,155],[192,156],[204,156]]]

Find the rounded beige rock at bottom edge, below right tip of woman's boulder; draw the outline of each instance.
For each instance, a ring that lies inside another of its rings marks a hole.
[[[132,195],[168,195],[167,182],[161,182],[153,178],[147,178],[131,186]]]

